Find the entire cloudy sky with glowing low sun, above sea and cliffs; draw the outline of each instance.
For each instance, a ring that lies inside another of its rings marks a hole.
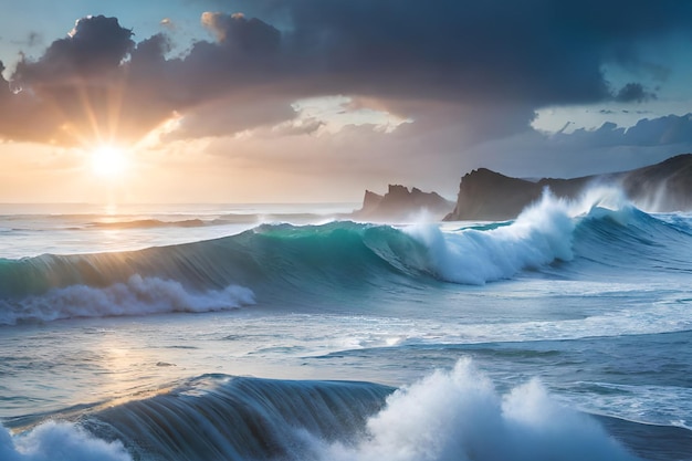
[[[0,7],[0,202],[454,199],[692,151],[685,0]]]

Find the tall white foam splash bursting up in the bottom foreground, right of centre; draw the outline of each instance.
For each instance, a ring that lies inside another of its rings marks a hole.
[[[590,417],[532,380],[504,397],[468,359],[387,400],[358,444],[322,444],[329,461],[633,461]],[[319,444],[319,442],[316,442]]]

